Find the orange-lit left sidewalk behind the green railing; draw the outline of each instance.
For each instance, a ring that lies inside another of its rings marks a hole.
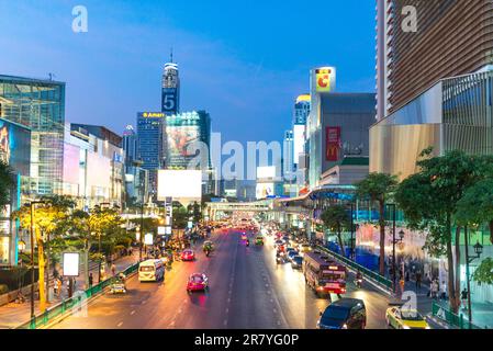
[[[125,256],[120,259],[117,259],[114,263],[116,265],[116,272],[120,272],[124,269],[126,269],[128,265],[138,262],[138,250],[134,250],[132,252],[132,256]],[[98,283],[98,268],[99,264],[97,262],[90,262],[89,263],[89,271],[92,273],[93,276],[93,284]],[[111,275],[111,265],[107,264],[105,267],[107,276]],[[85,283],[85,275],[80,275],[77,279],[76,283],[76,291],[85,291],[86,290],[86,283]],[[67,284],[64,284],[61,286],[61,293],[60,296],[54,296],[53,293],[53,284],[49,288],[49,295],[51,295],[51,303],[48,304],[48,308],[51,306],[54,306],[61,302],[64,298],[68,297],[68,287]],[[10,303],[7,305],[3,305],[0,307],[0,329],[10,329],[15,328],[19,325],[30,320],[31,318],[31,296],[25,296],[26,302],[23,304],[16,304],[16,303]],[[38,308],[40,302],[36,299],[34,301],[34,312],[35,314],[40,313]]]

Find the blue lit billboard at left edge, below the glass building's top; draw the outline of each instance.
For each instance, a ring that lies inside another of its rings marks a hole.
[[[0,118],[0,160],[21,176],[30,174],[31,132]]]

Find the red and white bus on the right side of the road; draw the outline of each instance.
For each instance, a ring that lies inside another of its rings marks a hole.
[[[303,275],[306,284],[318,296],[346,294],[346,267],[320,252],[306,252],[303,257]]]

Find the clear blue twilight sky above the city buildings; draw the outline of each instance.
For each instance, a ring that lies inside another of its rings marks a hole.
[[[71,31],[75,5],[89,32]],[[280,140],[309,70],[374,91],[373,0],[0,0],[0,73],[67,83],[66,118],[122,133],[160,110],[173,47],[181,110],[208,110],[223,140]]]

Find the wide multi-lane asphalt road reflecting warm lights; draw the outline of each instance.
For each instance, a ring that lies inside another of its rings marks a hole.
[[[328,305],[305,286],[303,274],[290,264],[278,265],[272,238],[265,247],[240,244],[240,234],[213,234],[215,251],[206,258],[197,245],[197,261],[175,262],[164,283],[128,280],[126,295],[105,294],[87,313],[70,316],[60,329],[311,329]],[[188,294],[192,273],[209,276],[210,291]],[[386,296],[365,284],[348,283],[347,297],[367,305],[367,328],[386,328]],[[335,299],[336,296],[333,296]]]

